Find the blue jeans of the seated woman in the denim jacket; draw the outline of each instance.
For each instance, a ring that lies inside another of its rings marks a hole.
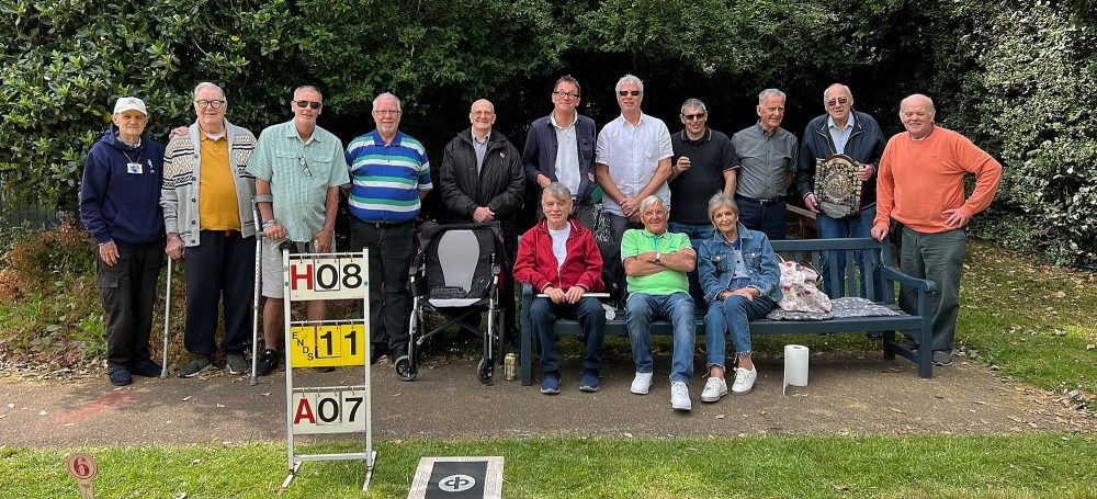
[[[704,316],[704,348],[709,351],[705,365],[724,368],[724,360],[727,359],[724,334],[728,332],[732,333],[736,358],[739,353],[750,353],[750,321],[766,317],[774,305],[765,296],[750,300],[738,295],[710,305],[709,314]]]

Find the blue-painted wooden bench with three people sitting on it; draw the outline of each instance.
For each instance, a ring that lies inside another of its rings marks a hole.
[[[795,261],[810,261],[816,269],[822,269],[823,254],[824,251],[842,251],[846,253],[846,273],[845,275],[836,274],[832,279],[836,281],[832,283],[832,288],[838,288],[837,281],[845,281],[847,284],[847,290],[850,294],[857,295],[856,290],[859,288],[859,277],[856,272],[857,265],[855,252],[856,250],[864,251],[875,251],[882,254],[880,261],[891,262],[891,245],[881,245],[880,241],[871,238],[866,239],[790,239],[783,241],[772,241],[773,250],[784,257],[785,260]],[[883,332],[883,354],[886,360],[894,360],[895,354],[900,354],[906,358],[911,362],[914,362],[918,366],[918,375],[921,377],[930,377],[932,375],[932,350],[928,348],[919,349],[916,352],[912,352],[900,344],[903,337],[898,336],[898,341],[896,341],[896,331],[905,331],[912,337],[918,340],[919,344],[932,344],[931,341],[931,324],[932,318],[928,316],[929,307],[929,294],[937,292],[937,285],[931,281],[924,279],[915,279],[907,274],[904,274],[898,269],[890,265],[883,264],[881,266],[881,274],[884,280],[883,290],[878,290],[873,283],[866,283],[864,296],[872,299],[874,303],[885,306],[894,311],[900,313],[897,316],[882,316],[882,317],[855,317],[855,318],[835,318],[828,320],[804,320],[804,321],[790,321],[790,320],[770,320],[770,319],[759,319],[750,321],[750,333],[751,334],[802,334],[802,333],[836,333],[836,332],[872,332],[881,331]],[[918,293],[918,314],[909,315],[904,313],[898,308],[895,303],[895,284],[902,284],[911,286],[917,290]],[[533,349],[534,349],[534,338],[533,338],[533,326],[529,317],[530,303],[533,299],[533,287],[529,284],[524,284],[521,287],[521,300],[519,317],[521,317],[521,340],[520,348],[521,353],[519,356],[519,364],[521,366],[521,377],[522,385],[530,385],[533,383]],[[697,322],[697,334],[701,338],[704,337],[704,317],[695,317]],[[575,320],[561,319],[556,321],[554,328],[557,336],[562,334],[576,334],[578,336],[581,330],[579,324]],[[652,324],[653,334],[670,334],[671,327],[670,324],[663,320],[657,320]],[[629,336],[629,327],[625,320],[625,310],[618,310],[617,317],[612,320],[608,320],[606,324],[606,334],[618,334],[618,336]]]

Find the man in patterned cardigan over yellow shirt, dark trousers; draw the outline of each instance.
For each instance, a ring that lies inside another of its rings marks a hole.
[[[163,156],[160,206],[168,231],[168,257],[186,249],[186,326],[183,343],[191,360],[180,371],[193,377],[212,368],[217,350],[218,302],[225,315],[225,364],[230,374],[248,371],[244,348],[255,292],[256,222],[247,172],[256,137],[225,120],[228,100],[210,82],[194,88],[197,121],[171,138]]]

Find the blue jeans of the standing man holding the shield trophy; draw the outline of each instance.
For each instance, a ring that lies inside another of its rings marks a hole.
[[[875,217],[875,205],[864,208],[859,214],[842,218],[832,218],[821,213],[815,216],[815,227],[818,228],[819,238],[822,239],[871,237],[869,235],[869,230],[872,229],[872,220]],[[855,293],[856,290],[844,290],[846,287],[846,252],[827,251],[825,253],[826,261],[823,266],[823,284],[826,287],[826,294],[828,296],[837,298],[839,296],[851,296],[856,294],[869,298],[870,296],[866,296],[864,288],[866,273],[872,274],[872,285],[877,293],[880,293],[883,290],[883,280],[880,276],[880,254],[875,251],[863,250],[858,250],[855,254],[857,257],[857,265],[861,271],[860,293]],[[868,269],[868,272],[866,269]],[[842,288],[833,290],[830,286],[832,277],[836,277]]]

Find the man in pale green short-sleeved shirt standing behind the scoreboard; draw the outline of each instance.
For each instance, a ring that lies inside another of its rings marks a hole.
[[[316,125],[324,111],[324,95],[315,87],[298,87],[290,101],[293,120],[259,134],[248,162],[256,177],[262,241],[263,341],[257,373],[265,376],[278,366],[282,340],[282,251],[328,253],[335,249],[339,188],[350,183],[342,143]],[[269,197],[268,197],[269,196]],[[308,302],[308,320],[324,319],[324,300]]]

